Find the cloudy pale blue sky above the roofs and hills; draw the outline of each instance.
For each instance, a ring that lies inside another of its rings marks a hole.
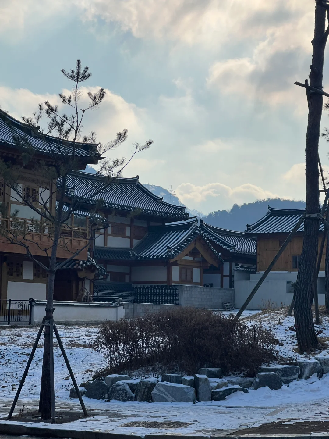
[[[311,0],[0,0],[0,105],[30,115],[80,58],[102,86],[86,132],[154,145],[125,169],[191,209],[304,199]],[[327,57],[328,58],[328,57]],[[329,62],[325,65],[325,85]],[[327,87],[327,88],[328,88]],[[86,90],[82,90],[86,91]],[[329,125],[323,115],[322,126]],[[327,169],[329,145],[321,140]]]

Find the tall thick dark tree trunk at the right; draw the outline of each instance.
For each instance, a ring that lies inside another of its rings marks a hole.
[[[323,60],[327,34],[325,31],[326,9],[320,1],[315,5],[315,31],[310,85],[322,90]],[[308,98],[308,128],[306,134],[306,213],[319,213],[318,143],[323,97],[306,89]],[[310,352],[318,346],[312,316],[311,301],[315,281],[318,254],[317,219],[304,221],[303,249],[295,286],[294,316],[297,342],[300,352]]]

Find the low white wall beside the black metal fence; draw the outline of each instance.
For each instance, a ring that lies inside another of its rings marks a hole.
[[[33,300],[31,324],[40,324],[45,316],[46,301]],[[125,317],[123,306],[107,302],[59,302],[54,301],[54,321],[57,324],[94,324],[107,320],[117,321]]]

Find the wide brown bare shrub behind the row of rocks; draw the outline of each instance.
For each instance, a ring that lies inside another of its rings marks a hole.
[[[275,358],[271,331],[207,309],[166,310],[101,325],[93,349],[107,362],[106,373],[154,366],[160,373],[195,373],[200,367],[245,371]]]

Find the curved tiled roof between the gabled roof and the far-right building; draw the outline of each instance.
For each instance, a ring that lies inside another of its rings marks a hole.
[[[203,236],[232,253],[242,253],[245,255],[257,254],[257,241],[242,232],[211,226],[204,223],[202,219],[200,219],[200,229],[202,230]]]

